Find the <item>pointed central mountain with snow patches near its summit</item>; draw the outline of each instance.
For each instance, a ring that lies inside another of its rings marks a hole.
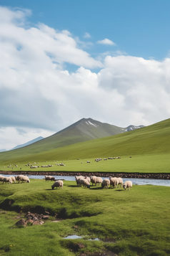
[[[67,128],[59,131],[58,133],[54,133],[54,135],[43,138],[40,141],[36,141],[35,143],[29,143],[29,145],[27,144],[27,146],[24,146],[24,148],[22,145],[22,148],[16,148],[16,150],[12,151],[12,153],[13,156],[29,156],[34,153],[46,152],[75,143],[91,141],[96,138],[105,138],[120,133],[126,133],[126,131],[128,131],[128,127],[121,128],[116,125],[110,125],[109,123],[101,123],[97,120],[93,120],[92,118],[82,118],[76,123],[73,123]],[[131,130],[140,128],[140,126],[134,125],[130,125],[130,127]]]

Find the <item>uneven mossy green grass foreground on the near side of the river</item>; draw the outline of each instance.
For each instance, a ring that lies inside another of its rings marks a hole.
[[[0,184],[0,255],[170,255],[170,187],[86,189],[64,181],[64,189],[51,190],[51,184]],[[17,228],[26,211],[48,211],[51,217],[43,225]],[[63,220],[53,222],[55,214]],[[71,234],[83,237],[64,240]]]

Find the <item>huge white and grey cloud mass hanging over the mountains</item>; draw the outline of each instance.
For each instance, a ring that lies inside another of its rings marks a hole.
[[[169,57],[108,52],[101,62],[67,30],[26,27],[30,14],[0,7],[1,148],[50,136],[81,118],[121,127],[169,118]],[[76,65],[76,72],[65,70],[66,63]]]

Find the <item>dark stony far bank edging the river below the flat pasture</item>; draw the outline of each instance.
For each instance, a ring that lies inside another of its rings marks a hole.
[[[99,177],[121,177],[121,178],[134,178],[134,179],[166,179],[170,180],[170,174],[139,174],[139,173],[116,173],[116,172],[74,172],[74,171],[0,171],[0,174],[7,175],[51,175],[51,176],[99,176]]]

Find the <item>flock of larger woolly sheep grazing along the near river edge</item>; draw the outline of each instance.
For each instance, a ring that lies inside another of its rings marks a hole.
[[[109,189],[110,187],[114,187],[116,188],[117,186],[123,186],[124,189],[132,189],[132,182],[131,181],[125,181],[123,183],[123,179],[121,178],[116,178],[116,177],[109,177],[109,179],[102,179],[101,177],[97,177],[97,176],[75,176],[76,179],[76,184],[77,186],[86,186],[87,188],[90,188],[90,183],[92,184],[92,186],[95,184],[95,186],[97,184],[101,184],[101,188],[102,189]],[[63,189],[63,181],[59,180],[56,181],[54,176],[45,176],[45,180],[46,181],[55,181],[54,184],[51,186],[51,189],[54,189],[56,187],[56,189],[59,187],[59,189]],[[18,182],[28,182],[30,183],[29,177],[25,176],[25,175],[18,175],[16,177],[14,176],[10,176],[10,177],[6,177],[6,176],[2,176],[0,175],[0,181],[3,182],[3,184],[11,184],[13,181],[16,183],[16,181]]]

